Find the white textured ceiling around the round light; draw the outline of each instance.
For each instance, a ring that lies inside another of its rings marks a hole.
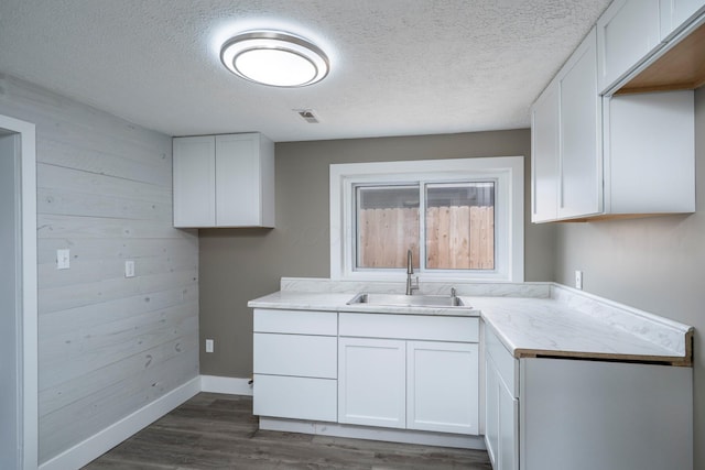
[[[2,0],[0,72],[170,135],[273,140],[529,127],[529,107],[609,0]],[[219,61],[237,32],[326,51],[322,83],[276,89]],[[294,109],[313,109],[305,122]],[[1,110],[0,110],[1,111]]]

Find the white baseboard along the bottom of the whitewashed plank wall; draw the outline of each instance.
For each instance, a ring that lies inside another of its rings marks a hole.
[[[42,463],[40,470],[78,469],[154,423],[198,392],[200,392],[199,376]]]

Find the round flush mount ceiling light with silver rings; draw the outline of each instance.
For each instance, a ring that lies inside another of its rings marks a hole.
[[[279,31],[251,31],[228,40],[220,61],[235,75],[273,87],[304,87],[328,75],[328,57],[321,48]]]

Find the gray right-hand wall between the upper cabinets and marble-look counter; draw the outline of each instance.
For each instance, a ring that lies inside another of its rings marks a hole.
[[[695,94],[697,212],[556,225],[555,280],[695,327],[695,468],[705,468],[705,88]],[[668,155],[663,155],[668,161]]]

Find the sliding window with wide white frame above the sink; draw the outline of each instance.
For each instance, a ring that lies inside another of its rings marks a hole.
[[[523,159],[330,165],[330,276],[523,281]]]

